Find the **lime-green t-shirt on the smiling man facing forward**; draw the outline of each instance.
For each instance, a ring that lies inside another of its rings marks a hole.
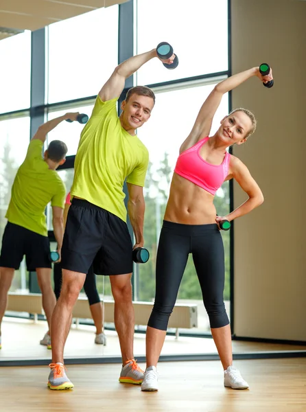
[[[82,130],[75,157],[71,196],[93,203],[126,221],[123,182],[144,186],[148,149],[123,129],[117,99],[97,96],[89,122]]]

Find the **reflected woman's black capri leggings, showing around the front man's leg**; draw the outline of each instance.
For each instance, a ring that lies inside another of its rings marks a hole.
[[[62,288],[62,265],[54,264],[54,293],[56,300],[60,297],[60,289]],[[89,268],[84,282],[84,291],[89,299],[89,305],[98,304],[100,301],[99,293],[97,293],[97,284],[95,283],[95,273],[93,266]]]

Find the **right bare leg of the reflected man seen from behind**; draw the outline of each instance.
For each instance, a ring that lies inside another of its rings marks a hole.
[[[36,268],[38,286],[43,296],[43,310],[47,318],[49,330],[51,328],[51,317],[56,306],[56,296],[51,285],[51,269]]]

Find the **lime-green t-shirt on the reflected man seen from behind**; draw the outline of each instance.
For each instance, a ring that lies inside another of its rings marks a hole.
[[[5,218],[14,223],[48,236],[45,208],[64,208],[66,189],[56,170],[49,169],[42,156],[43,141],[30,141],[27,155],[16,173],[12,196]]]

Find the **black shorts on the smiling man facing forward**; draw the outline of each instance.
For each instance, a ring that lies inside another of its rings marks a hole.
[[[132,273],[132,240],[126,222],[82,199],[73,198],[62,242],[62,268],[96,275]]]

